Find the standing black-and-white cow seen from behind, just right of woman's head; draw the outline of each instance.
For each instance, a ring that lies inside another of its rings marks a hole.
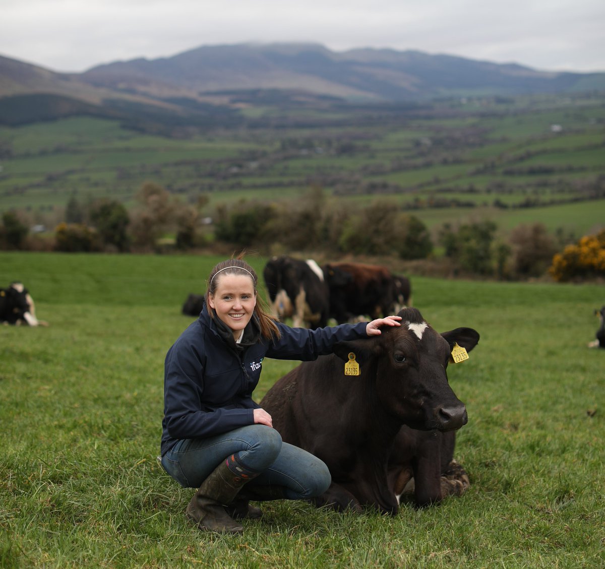
[[[263,269],[263,278],[273,316],[282,321],[292,317],[294,327],[315,329],[327,325],[330,291],[313,259],[272,257]]]

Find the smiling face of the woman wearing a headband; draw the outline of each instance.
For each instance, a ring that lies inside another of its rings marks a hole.
[[[216,278],[217,288],[214,294],[208,295],[208,302],[237,340],[257,305],[254,284],[246,275],[218,275]]]

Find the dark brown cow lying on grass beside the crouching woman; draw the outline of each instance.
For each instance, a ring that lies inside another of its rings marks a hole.
[[[468,358],[479,334],[473,328],[439,334],[416,308],[399,316],[400,327],[339,342],[333,354],[302,363],[261,400],[284,441],[329,467],[332,484],[316,506],[394,515],[404,492],[428,506],[469,486],[453,457],[455,431],[468,417],[446,368],[454,356]]]

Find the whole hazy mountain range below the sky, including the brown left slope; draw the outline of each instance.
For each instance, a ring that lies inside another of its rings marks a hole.
[[[243,104],[419,102],[605,89],[605,73],[550,73],[419,51],[318,44],[203,46],[84,73],[55,73],[0,56],[0,124],[73,114],[162,131],[241,122]]]

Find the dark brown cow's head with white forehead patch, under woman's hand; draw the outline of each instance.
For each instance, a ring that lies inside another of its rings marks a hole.
[[[473,328],[437,333],[416,308],[399,312],[401,327],[383,327],[380,336],[339,342],[335,354],[355,353],[359,379],[373,381],[386,412],[413,429],[453,431],[468,420],[465,405],[448,383],[446,369],[454,343],[466,351],[479,342]]]

